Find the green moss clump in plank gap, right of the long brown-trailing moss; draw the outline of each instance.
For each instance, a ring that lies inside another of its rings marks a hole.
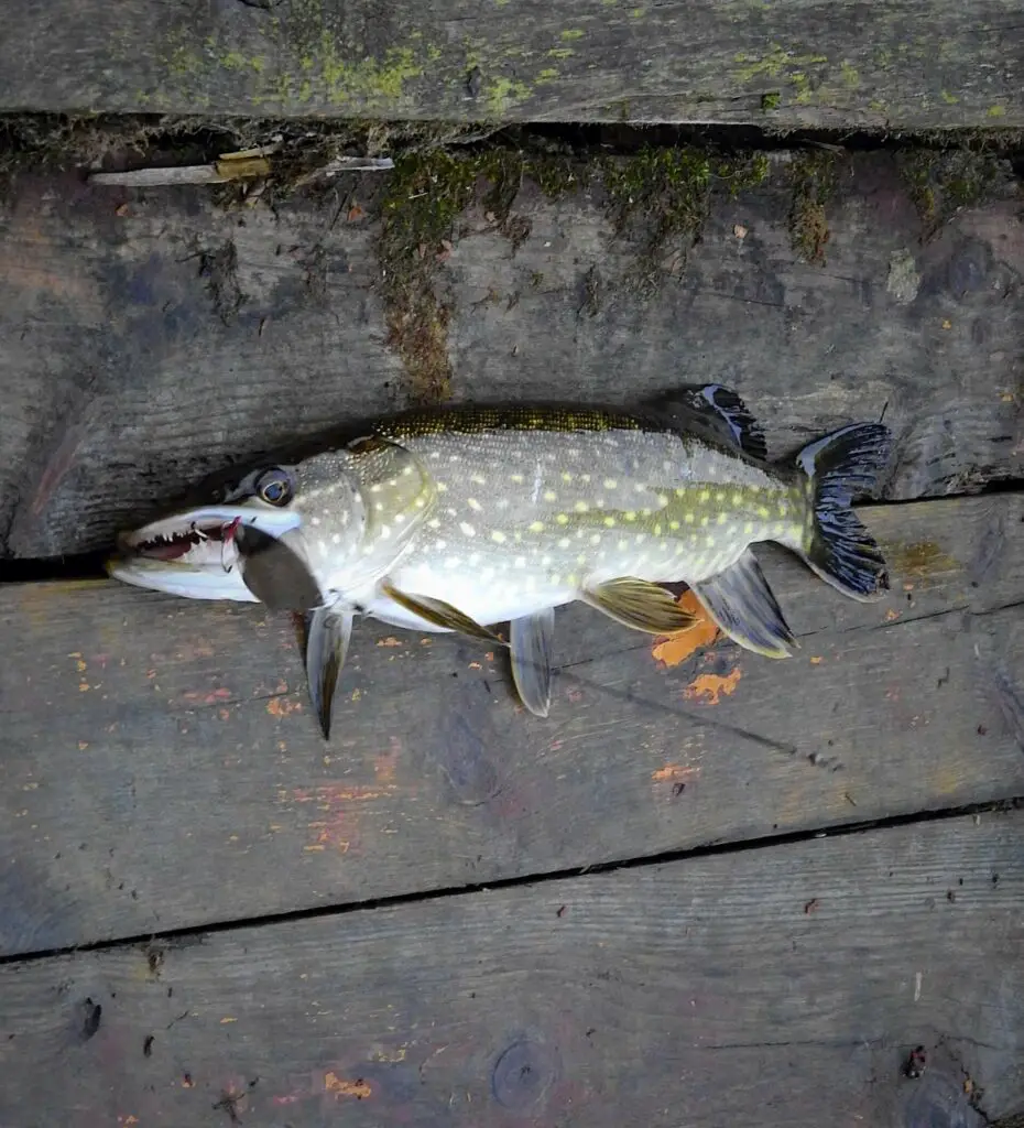
[[[720,156],[696,147],[645,148],[602,168],[607,213],[616,233],[639,241],[634,281],[651,291],[682,270],[700,238],[713,194],[735,197],[768,176],[762,153]]]

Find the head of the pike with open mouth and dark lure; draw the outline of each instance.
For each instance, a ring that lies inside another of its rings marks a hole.
[[[352,455],[327,451],[208,478],[192,503],[122,532],[107,573],[188,599],[304,611],[330,600],[365,530]]]

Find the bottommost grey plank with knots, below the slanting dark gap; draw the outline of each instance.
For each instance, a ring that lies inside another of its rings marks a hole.
[[[0,1119],[981,1128],[1022,898],[1017,811],[12,963]]]

